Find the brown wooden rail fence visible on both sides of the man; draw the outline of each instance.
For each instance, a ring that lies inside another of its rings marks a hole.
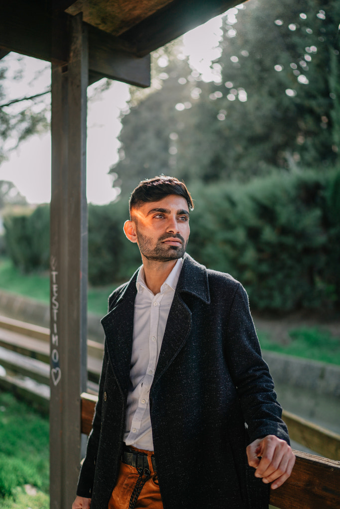
[[[43,384],[46,392],[41,392],[41,386],[34,392],[34,386],[28,387],[12,375],[0,376],[0,385],[25,399],[44,402],[48,411],[49,330],[2,317],[0,328],[7,331],[0,334],[0,364],[14,374]],[[81,397],[82,433],[85,434],[91,430],[102,353],[102,345],[88,341],[88,373],[93,390]],[[340,436],[290,412],[284,411],[283,419],[292,439],[327,458],[295,450],[293,473],[282,487],[271,492],[270,503],[278,509],[340,509],[340,461],[335,461],[340,458]]]

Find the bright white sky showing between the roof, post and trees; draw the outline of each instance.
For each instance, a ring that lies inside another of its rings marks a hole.
[[[232,11],[236,9],[228,11],[230,16]],[[202,74],[204,81],[214,79],[210,65],[219,56],[217,45],[222,35],[221,23],[221,16],[218,16],[184,36],[183,53],[189,56],[190,66]],[[50,66],[46,62],[9,53],[3,63],[9,69],[10,78],[22,73],[22,79],[5,82],[6,101],[29,97],[50,87]],[[119,116],[129,99],[127,84],[112,81],[108,90],[99,92],[101,84],[97,82],[88,88],[87,199],[96,205],[112,202],[119,193],[117,188],[112,187],[108,172],[118,160]],[[49,94],[44,100],[50,100]],[[11,111],[15,112],[15,108],[22,108],[22,105],[11,106]],[[50,158],[50,133],[30,137],[0,165],[0,180],[12,181],[31,204],[47,203],[51,195]]]

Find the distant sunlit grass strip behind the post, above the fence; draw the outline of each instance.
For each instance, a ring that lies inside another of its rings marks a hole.
[[[8,258],[0,258],[0,288],[11,293],[49,303],[49,274],[21,274]],[[89,288],[88,311],[96,315],[108,312],[108,297],[115,285]]]

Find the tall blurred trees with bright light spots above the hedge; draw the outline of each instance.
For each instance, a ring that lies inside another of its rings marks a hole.
[[[214,81],[205,83],[181,60],[178,44],[166,68],[164,55],[154,53],[163,86],[132,102],[122,119],[112,171],[123,190],[159,173],[188,183],[245,181],[273,166],[337,161],[340,4],[252,0],[241,7],[223,19]]]

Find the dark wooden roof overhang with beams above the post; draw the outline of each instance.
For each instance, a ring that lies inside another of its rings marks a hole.
[[[2,2],[0,58],[16,51],[67,64],[70,19],[82,12],[88,30],[90,82],[108,77],[147,87],[150,51],[238,3],[236,0]]]

